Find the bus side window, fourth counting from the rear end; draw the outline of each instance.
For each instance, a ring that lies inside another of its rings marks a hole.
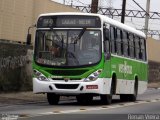
[[[128,39],[127,39],[127,32],[123,31],[123,53],[124,56],[128,56]]]

